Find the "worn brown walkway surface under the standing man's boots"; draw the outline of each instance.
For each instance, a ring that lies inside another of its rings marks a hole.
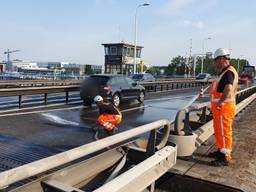
[[[210,166],[206,155],[215,150],[214,138],[200,147],[190,158],[177,161],[172,170],[218,184],[232,186],[243,191],[256,190],[256,101],[236,117],[233,129],[232,161],[227,167]]]

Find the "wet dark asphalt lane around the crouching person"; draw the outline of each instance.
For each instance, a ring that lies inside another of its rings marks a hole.
[[[176,112],[184,107],[198,90],[185,93],[156,95],[144,104],[137,101],[123,104],[120,109],[123,121],[118,132],[159,119],[174,120]],[[76,106],[41,112],[24,112],[11,116],[0,116],[0,134],[40,146],[68,150],[94,141],[92,123],[97,120],[98,110]],[[102,136],[107,136],[102,132]]]

